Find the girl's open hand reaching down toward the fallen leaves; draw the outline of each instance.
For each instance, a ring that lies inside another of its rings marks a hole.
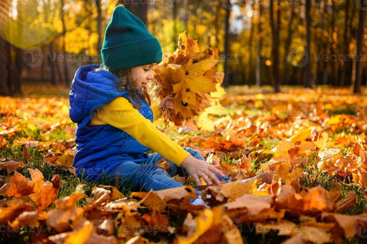
[[[217,176],[213,173],[216,173],[221,177],[224,176],[224,173],[218,169],[219,164],[211,165],[204,160],[196,159],[192,155],[187,156],[182,161],[181,166],[188,171],[188,173],[195,179],[197,185],[199,186],[201,186],[200,177],[203,178],[208,185],[212,185],[212,182],[208,176],[210,176],[215,184],[220,184],[221,181],[219,181]]]

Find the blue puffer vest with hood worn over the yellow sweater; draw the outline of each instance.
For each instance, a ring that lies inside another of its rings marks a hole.
[[[75,73],[69,94],[69,116],[77,123],[75,129],[74,167],[79,178],[98,180],[124,161],[141,162],[148,159],[150,148],[141,145],[126,132],[111,125],[88,126],[96,109],[119,96],[130,98],[127,91],[118,91],[117,76],[98,70],[99,65],[81,66]],[[139,112],[153,121],[153,112],[148,103],[141,100]]]

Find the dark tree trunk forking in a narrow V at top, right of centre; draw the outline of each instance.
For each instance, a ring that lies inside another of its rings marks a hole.
[[[272,84],[274,88],[274,92],[280,92],[279,87],[279,26],[280,26],[280,3],[277,0],[277,22],[274,21],[274,13],[273,13],[273,1],[270,1],[270,23],[272,27],[273,34],[273,77]]]

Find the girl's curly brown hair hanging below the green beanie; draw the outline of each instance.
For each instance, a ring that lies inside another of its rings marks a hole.
[[[136,84],[136,79],[132,76],[131,68],[128,69],[120,69],[120,70],[109,70],[108,67],[105,67],[101,65],[98,69],[95,69],[95,71],[98,70],[106,70],[115,76],[119,77],[115,80],[117,90],[119,91],[125,91],[127,90],[130,102],[132,103],[132,106],[135,109],[140,109],[141,99],[146,101],[149,106],[153,103],[159,102],[159,93],[161,91],[161,86],[157,82],[156,79],[152,79],[151,82],[147,84],[146,87],[138,87]],[[139,92],[142,90],[141,94]]]

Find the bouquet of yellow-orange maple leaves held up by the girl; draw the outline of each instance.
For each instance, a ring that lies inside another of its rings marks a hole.
[[[174,112],[164,110],[164,123],[174,122],[195,129],[214,131],[209,114],[221,115],[224,109],[219,98],[225,94],[221,87],[224,73],[216,72],[218,49],[208,46],[203,52],[196,40],[179,33],[176,51],[164,57],[163,65],[155,67],[155,79],[161,86],[161,96],[172,96]]]

